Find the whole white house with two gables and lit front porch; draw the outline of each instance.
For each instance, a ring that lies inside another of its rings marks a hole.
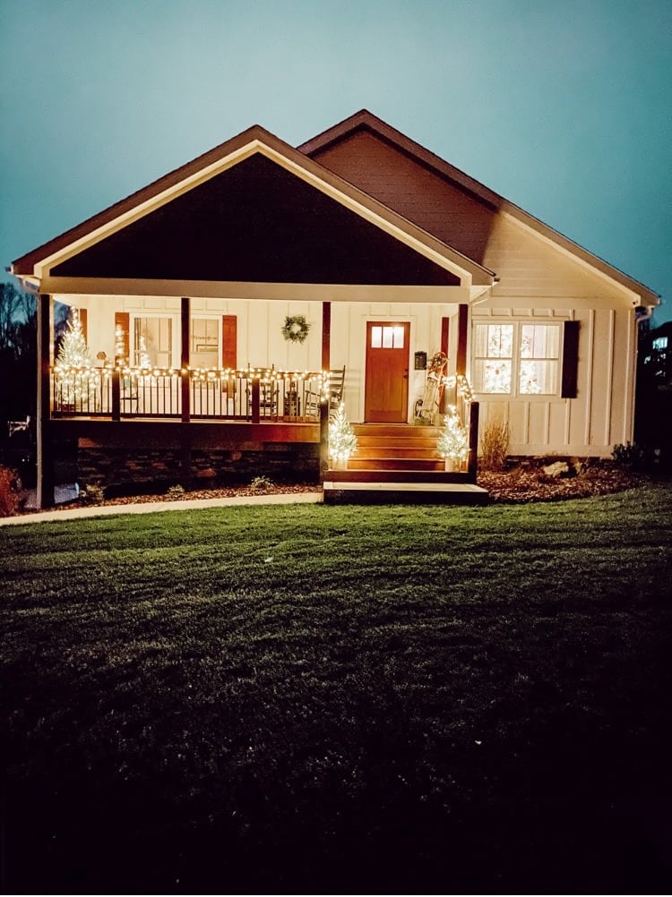
[[[636,318],[659,301],[367,111],[298,148],[253,126],[13,274],[40,293],[42,505],[64,437],[102,483],[270,471],[439,492],[475,483],[492,419],[512,455],[609,456],[633,439]],[[76,395],[54,301],[100,356]],[[345,471],[329,391],[360,438]],[[471,438],[453,474],[447,405]]]

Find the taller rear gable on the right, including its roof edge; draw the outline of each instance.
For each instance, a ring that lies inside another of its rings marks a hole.
[[[437,239],[495,272],[503,289],[515,292],[515,282],[523,281],[526,290],[534,291],[537,274],[543,274],[545,283],[539,283],[539,289],[547,295],[578,291],[583,296],[598,297],[616,292],[634,304],[659,303],[659,296],[643,284],[484,187],[366,109],[328,128],[299,149]],[[507,239],[502,252],[504,219]],[[512,228],[508,227],[509,223]]]

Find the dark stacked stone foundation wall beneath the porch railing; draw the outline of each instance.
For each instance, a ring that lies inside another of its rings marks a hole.
[[[249,483],[267,476],[274,483],[318,483],[319,445],[278,442],[257,450],[196,449],[188,473],[179,448],[80,447],[78,478],[110,492],[180,483],[185,488]]]

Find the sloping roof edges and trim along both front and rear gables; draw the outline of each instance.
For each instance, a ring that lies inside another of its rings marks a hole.
[[[82,251],[83,248],[92,246],[98,240],[121,230],[128,223],[142,218],[153,209],[169,203],[172,198],[213,178],[227,167],[236,165],[256,152],[261,152],[281,164],[293,175],[318,187],[319,190],[335,197],[339,203],[358,215],[374,222],[381,229],[387,230],[388,233],[401,239],[407,246],[415,248],[425,257],[433,261],[438,260],[439,264],[443,264],[454,273],[466,274],[474,285],[492,284],[496,279],[495,273],[480,264],[477,259],[467,257],[445,240],[438,239],[432,233],[423,230],[417,223],[411,222],[389,205],[370,196],[317,161],[320,152],[324,152],[328,147],[346,140],[361,130],[369,131],[396,147],[418,165],[432,170],[439,177],[456,185],[493,211],[511,215],[521,224],[536,231],[537,234],[550,240],[559,248],[563,248],[565,252],[639,295],[642,304],[649,306],[659,304],[658,294],[639,281],[624,274],[615,266],[609,265],[558,231],[554,231],[534,215],[525,212],[518,205],[511,203],[510,200],[495,193],[489,187],[485,187],[484,184],[471,178],[448,161],[441,159],[440,156],[397,131],[396,128],[389,126],[366,109],[361,109],[339,124],[327,128],[326,131],[301,144],[298,148],[292,148],[261,126],[249,127],[239,135],[232,137],[231,140],[197,156],[196,159],[135,191],[118,203],[110,205],[109,208],[77,224],[74,228],[48,240],[38,248],[32,249],[13,262],[12,272],[18,276],[39,277],[42,270],[48,271],[49,266],[56,266],[59,261],[68,257],[68,253],[73,255],[75,252]]]

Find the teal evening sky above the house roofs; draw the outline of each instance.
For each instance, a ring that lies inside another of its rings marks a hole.
[[[672,318],[669,0],[0,0],[0,265],[259,124],[370,109]]]

